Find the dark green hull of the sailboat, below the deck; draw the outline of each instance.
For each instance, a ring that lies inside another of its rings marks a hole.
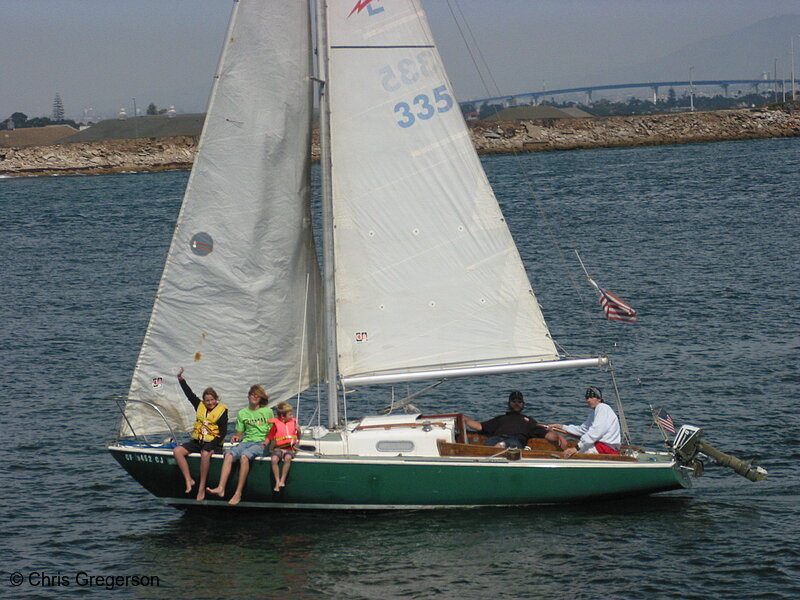
[[[142,486],[171,505],[228,506],[237,471],[228,481],[226,500],[203,502],[184,494],[183,478],[170,450],[113,445],[111,454]],[[216,485],[222,457],[211,461]],[[199,455],[189,456],[199,481]],[[604,462],[502,458],[365,458],[298,456],[286,487],[273,491],[269,460],[258,459],[238,507],[303,509],[419,509],[525,506],[646,495],[689,487],[685,472],[672,461]],[[195,490],[196,493],[196,490]]]

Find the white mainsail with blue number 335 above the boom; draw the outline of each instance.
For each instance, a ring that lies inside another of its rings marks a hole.
[[[328,5],[343,380],[557,359],[420,2]]]

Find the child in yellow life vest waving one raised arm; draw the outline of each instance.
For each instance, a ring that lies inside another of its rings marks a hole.
[[[197,500],[205,500],[206,479],[211,467],[211,455],[222,452],[222,443],[228,433],[228,407],[219,401],[219,396],[214,388],[203,390],[203,399],[198,398],[183,379],[183,367],[178,371],[178,383],[186,399],[192,403],[196,412],[196,421],[192,430],[192,439],[176,447],[172,454],[181,470],[181,475],[186,482],[186,491],[189,494],[194,487],[194,479],[189,473],[189,463],[186,457],[192,452],[200,453],[200,485],[197,488]]]

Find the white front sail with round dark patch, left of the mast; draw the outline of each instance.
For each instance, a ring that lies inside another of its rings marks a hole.
[[[309,209],[307,2],[236,3],[205,127],[129,397],[171,425],[194,420],[175,378],[232,409],[318,380],[320,276]],[[235,412],[235,410],[234,410]],[[123,433],[164,429],[126,406]],[[155,418],[154,418],[155,417]]]

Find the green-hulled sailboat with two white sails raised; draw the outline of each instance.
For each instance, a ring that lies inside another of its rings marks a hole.
[[[327,382],[327,426],[305,424],[287,485],[275,492],[269,458],[256,459],[237,507],[524,506],[688,487],[696,452],[565,459],[545,440],[486,447],[460,413],[342,417],[360,386],[607,364],[559,354],[419,0],[234,3],[109,446],[130,475],[173,506],[228,506],[187,495],[175,465],[171,448],[195,418],[174,376],[185,366],[232,417],[252,383],[274,403]],[[221,463],[212,458],[210,481]],[[199,456],[189,464],[196,473]]]

